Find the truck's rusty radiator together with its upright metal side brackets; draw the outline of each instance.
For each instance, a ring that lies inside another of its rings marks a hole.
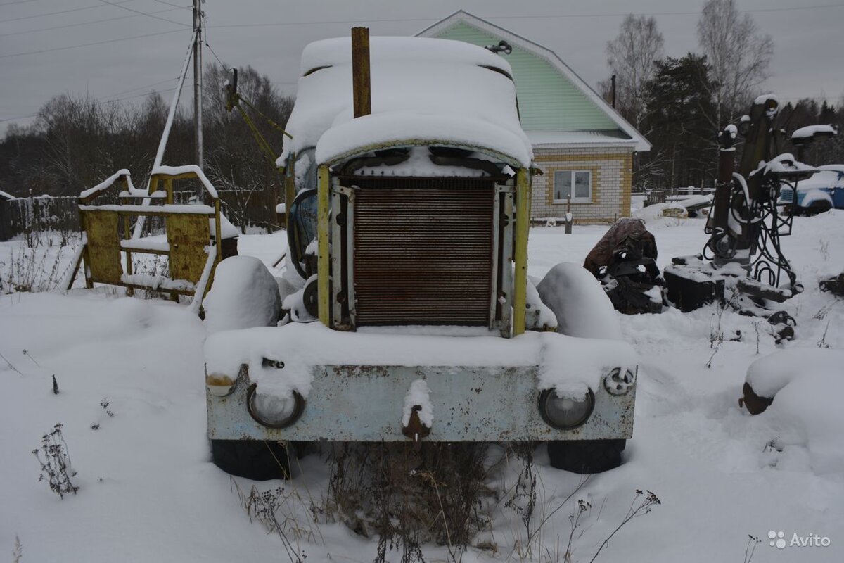
[[[508,336],[511,268],[500,268],[511,263],[508,181],[335,178],[333,327],[461,325]]]

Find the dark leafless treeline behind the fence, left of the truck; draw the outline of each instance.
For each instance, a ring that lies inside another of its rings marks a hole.
[[[223,68],[208,65],[203,75],[203,170],[221,189],[275,190],[281,177],[272,160],[262,153],[238,112],[225,110],[223,87],[229,77]],[[254,68],[239,70],[238,91],[257,111],[284,127],[293,99],[280,95],[266,75]],[[186,84],[182,98],[190,99]],[[115,171],[127,168],[136,187],[149,177],[169,100],[151,93],[143,103],[122,106],[89,96],[59,95],[39,111],[26,127],[8,127],[0,142],[0,190],[14,196],[78,195]],[[247,109],[262,135],[276,152],[282,135],[255,111]],[[176,112],[165,151],[165,165],[196,162],[193,114]]]

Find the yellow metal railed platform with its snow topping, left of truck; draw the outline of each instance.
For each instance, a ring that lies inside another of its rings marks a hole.
[[[208,204],[174,204],[174,182],[184,180],[197,182]],[[142,236],[144,219],[157,220],[163,234]],[[147,189],[134,187],[129,171],[117,171],[79,194],[79,223],[84,238],[66,289],[84,263],[86,287],[117,285],[129,295],[138,289],[162,291],[174,300],[187,295],[198,312],[214,266],[237,253],[238,232],[220,214],[217,191],[195,165],[154,168]],[[166,257],[168,274],[135,271],[134,254]]]

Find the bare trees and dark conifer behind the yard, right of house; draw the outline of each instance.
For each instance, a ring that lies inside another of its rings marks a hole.
[[[700,51],[668,57],[657,21],[628,15],[607,44],[607,62],[617,78],[616,108],[652,143],[634,159],[634,188],[711,187],[717,174],[717,133],[749,111],[765,80],[773,40],[757,29],[735,0],[706,0],[697,24]],[[607,99],[609,80],[599,84]],[[776,95],[776,92],[773,92]],[[780,100],[776,127],[786,135],[777,152],[796,154],[790,141],[799,127],[831,124],[844,135],[844,99]],[[844,137],[816,143],[804,155],[809,165],[844,163]]]

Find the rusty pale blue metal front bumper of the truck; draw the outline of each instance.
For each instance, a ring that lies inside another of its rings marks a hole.
[[[235,391],[208,395],[208,434],[214,439],[295,441],[404,441],[402,416],[410,385],[430,388],[434,424],[429,441],[545,441],[630,438],[634,387],[613,396],[594,390],[595,408],[586,424],[557,430],[538,411],[535,366],[460,367],[325,365],[313,368],[313,385],[295,424],[271,429],[246,410],[248,370]],[[279,376],[283,376],[282,371]]]

